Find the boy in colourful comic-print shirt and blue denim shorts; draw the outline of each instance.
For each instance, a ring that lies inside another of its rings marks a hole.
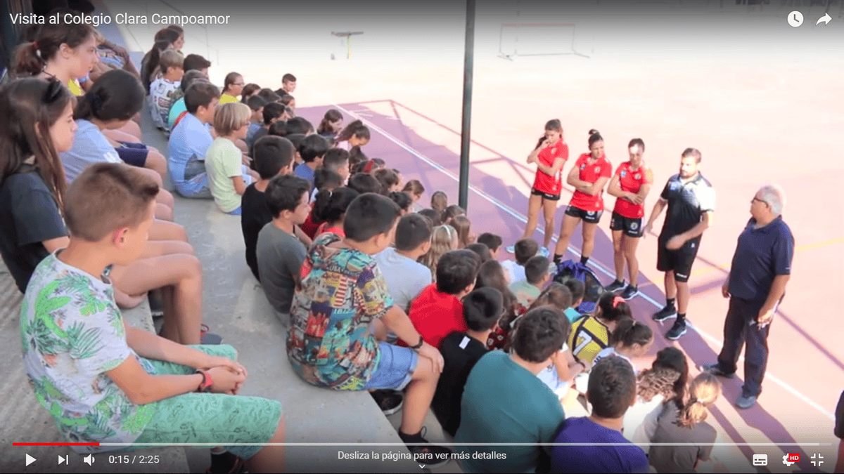
[[[314,240],[290,308],[287,354],[311,385],[351,391],[407,387],[398,434],[407,444],[426,444],[422,423],[443,359],[393,304],[373,258],[393,241],[399,214],[392,200],[365,193],[346,211],[344,238],[327,233]],[[382,342],[387,329],[410,347]],[[408,448],[428,467],[451,457],[440,446]]]

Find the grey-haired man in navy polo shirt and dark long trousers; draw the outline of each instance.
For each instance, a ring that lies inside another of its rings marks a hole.
[[[730,274],[721,287],[730,299],[724,321],[724,345],[716,364],[705,369],[732,378],[744,342],[744,386],[739,408],[753,407],[762,391],[768,363],[768,331],[776,306],[786,292],[794,256],[794,236],[782,220],[785,194],[776,185],[762,186],[750,202],[750,220],[738,235]]]

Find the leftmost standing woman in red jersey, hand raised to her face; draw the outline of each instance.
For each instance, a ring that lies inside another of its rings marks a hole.
[[[536,148],[527,155],[527,164],[536,164],[536,177],[527,202],[527,226],[522,234],[522,239],[533,236],[541,207],[545,214],[545,243],[539,249],[541,256],[548,256],[548,246],[554,237],[554,214],[563,189],[561,175],[566,159],[569,159],[569,146],[563,141],[563,127],[559,120],[549,120],[545,124],[545,134],[539,137]],[[507,251],[512,253],[515,246],[510,245]]]

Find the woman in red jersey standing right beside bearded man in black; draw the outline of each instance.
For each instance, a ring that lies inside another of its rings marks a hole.
[[[609,180],[607,192],[614,196],[615,207],[609,229],[613,231],[613,259],[615,261],[615,281],[606,288],[616,292],[620,289],[621,297],[632,299],[639,294],[636,278],[639,276],[639,261],[636,260],[636,247],[644,233],[641,219],[645,216],[645,198],[651,191],[653,172],[645,165],[645,142],[633,138],[627,145],[630,160],[619,164],[612,180]],[[630,284],[625,286],[625,263],[630,274]]]

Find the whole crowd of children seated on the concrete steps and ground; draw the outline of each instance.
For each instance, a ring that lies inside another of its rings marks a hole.
[[[419,181],[403,186],[398,170],[363,154],[370,132],[360,121],[343,127],[329,110],[315,130],[295,117],[291,75],[273,91],[230,73],[221,94],[208,62],[182,57],[183,33],[162,30],[141,78],[102,73],[74,109],[66,84],[92,62],[59,46],[81,51],[94,33],[62,28],[46,29],[60,40],[22,46],[46,76],[0,90],[0,250],[25,292],[30,380],[68,438],[169,442],[182,420],[195,428],[189,441],[221,444],[209,471],[282,466],[281,447],[225,446],[283,441],[281,407],[236,396],[247,374],[232,347],[198,345],[202,267],[172,222],[169,173],[182,197],[213,197],[241,215],[246,262],[289,328],[295,373],[371,391],[385,413],[401,407],[399,435],[419,463],[452,453],[425,440],[429,408],[458,443],[520,443],[462,446],[490,454],[463,456],[465,471],[694,471],[710,460],[709,449],[668,444],[715,439],[704,420],[717,380],[701,374],[687,390],[688,365],[671,347],[637,377],[632,359],[653,334],[628,304],[608,293],[581,315],[582,282],[549,284],[550,262],[530,239],[515,245],[516,261],[498,262],[500,237],[476,237],[442,191],[414,213]],[[170,131],[163,167],[127,132],[145,96]],[[125,326],[116,306],[155,288],[170,341]],[[68,371],[68,358],[90,364]],[[88,388],[49,388],[70,385]],[[589,412],[566,417],[578,385]],[[124,408],[104,415],[116,403]],[[630,441],[665,445],[646,455]],[[592,445],[539,445],[552,442]]]

